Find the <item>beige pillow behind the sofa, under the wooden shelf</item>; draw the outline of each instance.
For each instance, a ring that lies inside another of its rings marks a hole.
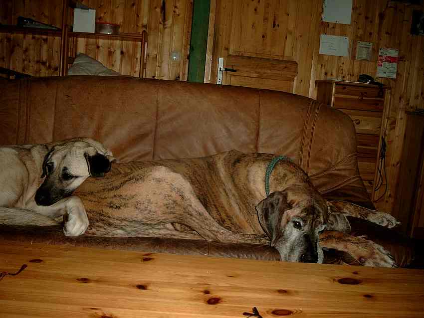
[[[71,67],[68,69],[68,75],[117,76],[121,74],[107,68],[102,63],[88,55],[78,53]]]

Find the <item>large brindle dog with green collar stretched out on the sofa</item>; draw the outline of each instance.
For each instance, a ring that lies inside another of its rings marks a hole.
[[[270,242],[281,260],[311,263],[322,262],[322,247],[331,247],[349,252],[363,265],[396,266],[380,245],[349,235],[345,215],[387,227],[398,224],[395,218],[327,201],[288,160],[275,165],[266,197],[265,170],[272,159],[270,154],[230,151],[120,163],[105,178],[87,179],[75,195],[90,220],[88,235]]]

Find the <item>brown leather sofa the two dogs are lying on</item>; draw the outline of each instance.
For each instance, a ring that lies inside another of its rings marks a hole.
[[[301,166],[327,199],[373,207],[359,176],[350,118],[306,97],[127,77],[43,77],[1,80],[0,84],[0,144],[40,144],[85,136],[101,141],[120,161],[202,157],[231,149],[280,154]],[[369,233],[366,222],[355,226],[354,231],[366,231],[370,238],[380,230]],[[392,239],[393,233],[389,233]],[[386,232],[379,232],[376,240],[392,251],[400,265],[410,264],[415,257],[411,242],[401,237],[386,242],[386,237]],[[67,238],[57,229],[22,232],[3,227],[0,239],[279,258],[273,248],[262,245],[169,238]],[[330,261],[339,262],[340,255],[327,258]]]

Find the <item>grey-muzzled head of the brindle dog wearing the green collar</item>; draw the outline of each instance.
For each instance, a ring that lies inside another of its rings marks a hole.
[[[325,199],[319,196],[289,200],[287,192],[275,191],[256,206],[256,211],[282,261],[322,263],[318,238],[327,222]]]

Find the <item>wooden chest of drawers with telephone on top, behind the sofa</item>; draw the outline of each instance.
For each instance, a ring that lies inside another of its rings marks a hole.
[[[390,107],[390,89],[347,81],[317,81],[317,100],[348,114],[355,125],[359,172],[372,200]],[[382,170],[383,169],[383,170]],[[380,169],[384,172],[384,167]]]

